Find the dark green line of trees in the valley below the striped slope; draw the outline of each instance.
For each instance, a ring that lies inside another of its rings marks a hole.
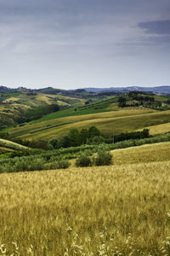
[[[131,131],[131,132],[122,132],[121,134],[115,135],[114,143],[126,141],[126,140],[135,140],[135,139],[143,139],[150,137],[149,129],[144,129],[143,131]],[[23,140],[21,138],[11,138],[8,132],[0,132],[0,138],[6,138],[14,143],[19,143],[29,148],[42,148],[45,150],[48,149],[57,149],[57,148],[70,148],[70,147],[78,147],[82,144],[91,144],[91,145],[99,145],[101,143],[111,144],[113,143],[113,137],[105,137],[103,136],[99,129],[95,126],[91,126],[89,129],[82,129],[78,131],[77,129],[71,129],[67,135],[61,137],[60,139],[51,138],[47,141],[29,141]]]

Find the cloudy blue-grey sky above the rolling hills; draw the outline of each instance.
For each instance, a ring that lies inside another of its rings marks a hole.
[[[0,85],[170,85],[169,0],[0,0]]]

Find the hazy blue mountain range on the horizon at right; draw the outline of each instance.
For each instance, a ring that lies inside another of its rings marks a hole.
[[[139,91],[145,91],[145,92],[154,92],[157,94],[169,94],[170,95],[170,86],[169,85],[162,85],[162,86],[156,86],[156,87],[140,87],[140,86],[110,87],[110,88],[88,87],[88,88],[84,88],[84,89],[91,91],[91,92],[96,92],[96,93],[102,92],[102,91],[126,92],[126,91],[132,91],[132,90],[139,90]]]

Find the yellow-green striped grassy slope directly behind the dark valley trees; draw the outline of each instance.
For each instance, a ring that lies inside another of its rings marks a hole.
[[[9,132],[14,137],[49,139],[50,137],[61,137],[67,134],[72,128],[82,129],[96,125],[102,133],[111,135],[113,130],[115,133],[120,133],[123,131],[134,131],[148,125],[163,123],[169,119],[169,113],[170,111],[150,113],[150,109],[134,110],[131,108],[130,110],[51,119],[37,124],[16,127],[9,130]],[[50,125],[58,126],[50,128]]]

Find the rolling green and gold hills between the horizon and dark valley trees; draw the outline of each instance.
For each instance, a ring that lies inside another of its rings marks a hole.
[[[106,92],[90,94],[86,90],[49,87],[3,92],[0,99],[0,125],[11,138],[47,141],[66,135],[73,128],[81,130],[93,125],[103,135],[111,136],[113,131],[119,134],[145,127],[153,131],[150,127],[170,122],[169,96],[138,91],[109,96]],[[45,106],[56,104],[59,110],[46,111]]]

